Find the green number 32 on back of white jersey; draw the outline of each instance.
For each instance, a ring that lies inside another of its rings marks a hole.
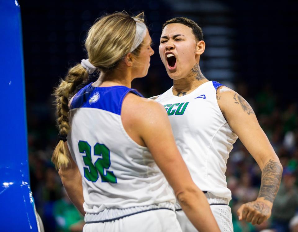
[[[98,180],[98,172],[101,176],[102,182],[117,183],[117,178],[113,172],[106,171],[111,166],[110,150],[104,144],[95,144],[94,155],[101,155],[102,158],[98,158],[95,161],[95,166],[91,160],[91,146],[86,141],[79,141],[79,152],[86,155],[83,156],[83,161],[88,168],[84,167],[84,176],[88,181],[96,182]]]

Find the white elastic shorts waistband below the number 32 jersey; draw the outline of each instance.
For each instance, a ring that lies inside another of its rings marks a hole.
[[[99,222],[109,222],[119,220],[124,217],[129,217],[137,213],[158,210],[158,209],[167,209],[175,210],[174,204],[171,202],[163,202],[159,204],[152,204],[147,206],[137,206],[131,208],[113,208],[113,209],[104,209],[99,213],[86,213],[85,222],[86,223],[99,223]]]

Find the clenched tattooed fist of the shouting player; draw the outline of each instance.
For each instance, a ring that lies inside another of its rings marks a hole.
[[[261,200],[248,202],[237,210],[239,220],[246,220],[252,225],[261,224],[271,216],[271,207]]]

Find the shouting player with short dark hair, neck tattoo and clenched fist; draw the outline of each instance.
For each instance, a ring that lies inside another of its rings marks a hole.
[[[232,232],[231,191],[224,173],[236,139],[262,170],[259,196],[239,208],[239,220],[261,224],[270,217],[282,166],[246,100],[203,76],[199,60],[204,50],[203,33],[195,22],[186,18],[165,22],[159,53],[174,84],[153,99],[164,105],[178,149],[192,179],[205,192],[220,230]],[[179,204],[176,214],[184,232],[195,231]]]

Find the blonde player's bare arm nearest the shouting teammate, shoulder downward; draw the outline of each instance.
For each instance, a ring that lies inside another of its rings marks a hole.
[[[192,181],[178,151],[164,107],[151,100],[142,101],[138,104],[141,116],[135,116],[136,128],[174,189],[183,211],[200,232],[219,232],[205,195]]]

